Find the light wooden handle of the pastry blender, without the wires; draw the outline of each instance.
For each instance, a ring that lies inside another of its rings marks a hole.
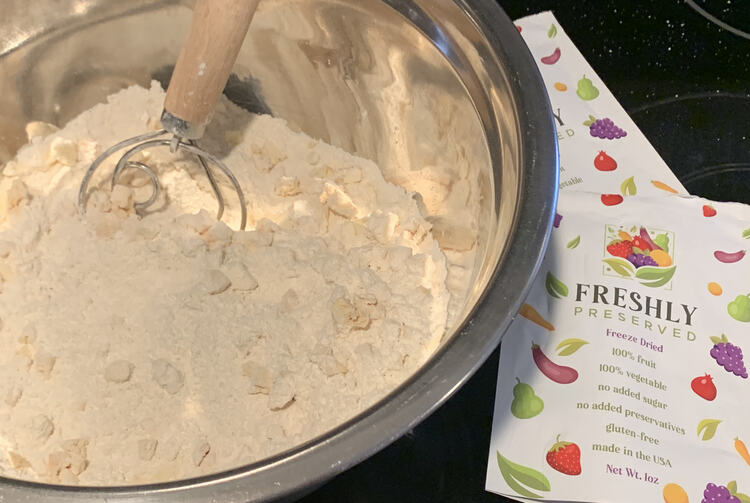
[[[202,135],[211,120],[259,2],[197,0],[164,101],[166,112],[190,123],[192,136]]]

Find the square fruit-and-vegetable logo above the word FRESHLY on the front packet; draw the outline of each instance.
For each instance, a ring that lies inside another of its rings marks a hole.
[[[672,288],[674,233],[634,225],[604,228],[603,273],[651,288]]]

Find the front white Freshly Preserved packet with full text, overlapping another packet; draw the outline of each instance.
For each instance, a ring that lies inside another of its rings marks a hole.
[[[502,340],[487,489],[747,500],[750,206],[690,196],[608,206],[571,191],[558,211]]]

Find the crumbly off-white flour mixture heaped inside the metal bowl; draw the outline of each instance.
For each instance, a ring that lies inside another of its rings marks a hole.
[[[91,161],[158,128],[163,100],[131,87],[64,129],[32,123],[0,176],[3,475],[134,484],[259,460],[383,397],[445,332],[446,258],[415,197],[228,102],[202,146],[252,230],[224,184],[217,223],[199,166],[166,148],[139,157],[156,211],[133,210],[151,191],[137,171],[109,190],[110,161],[81,217]]]

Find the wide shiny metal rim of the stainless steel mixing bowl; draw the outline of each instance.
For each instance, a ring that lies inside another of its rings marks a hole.
[[[510,18],[495,0],[451,1],[476,24],[513,70],[508,84],[516,100],[519,161],[523,166],[509,235],[509,242],[516,244],[507,246],[498,258],[484,292],[457,333],[419,371],[373,406],[331,431],[259,462],[201,477],[129,486],[61,486],[0,477],[0,495],[29,501],[288,498],[385,448],[469,380],[500,343],[540,268],[557,203],[559,153],[544,82]],[[384,2],[394,7],[409,0]],[[515,295],[509,295],[505,285],[519,288]]]

